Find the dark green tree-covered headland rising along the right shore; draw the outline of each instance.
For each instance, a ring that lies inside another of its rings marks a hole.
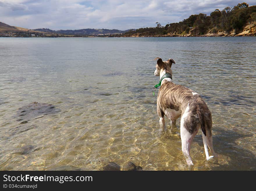
[[[131,30],[122,34],[122,36],[133,36],[136,34],[140,36],[161,36],[189,33],[192,35],[204,35],[219,31],[239,33],[246,24],[253,21],[256,21],[256,6],[239,3],[233,8],[226,7],[222,11],[216,9],[209,16],[203,13],[191,15],[181,22],[166,24],[165,26],[157,22],[156,27]]]

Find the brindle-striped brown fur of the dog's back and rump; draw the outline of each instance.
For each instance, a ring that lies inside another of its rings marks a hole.
[[[168,109],[176,111],[185,111],[189,106],[188,116],[184,127],[194,133],[197,125],[201,125],[202,132],[206,135],[206,129],[211,133],[211,112],[202,97],[193,90],[183,86],[176,85],[173,82],[164,83],[158,92],[157,105],[159,105],[160,115],[166,113]],[[163,113],[162,113],[163,112]],[[182,115],[183,113],[181,113]],[[168,117],[168,116],[167,116]],[[178,116],[172,116],[175,120]]]

